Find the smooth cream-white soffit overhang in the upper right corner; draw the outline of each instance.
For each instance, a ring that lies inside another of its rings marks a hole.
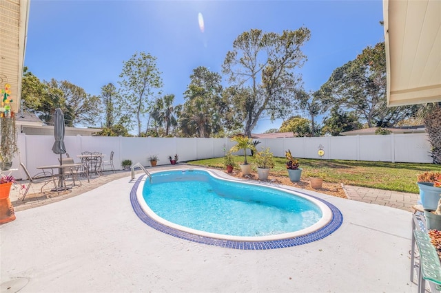
[[[441,101],[441,0],[383,0],[387,104]]]

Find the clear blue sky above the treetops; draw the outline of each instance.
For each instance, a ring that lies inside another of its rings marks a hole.
[[[198,25],[203,15],[204,31]],[[68,80],[88,94],[118,87],[123,61],[135,52],[157,57],[163,93],[183,103],[192,70],[221,74],[242,32],[309,28],[298,69],[315,91],[368,45],[384,40],[382,1],[41,1],[30,2],[25,66],[40,80]],[[227,85],[225,83],[225,85]],[[99,126],[99,125],[97,125]],[[280,127],[263,118],[254,133]]]

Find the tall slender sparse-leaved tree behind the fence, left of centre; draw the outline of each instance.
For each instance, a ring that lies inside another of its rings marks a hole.
[[[156,67],[156,57],[136,52],[132,58],[123,62],[121,95],[125,98],[128,113],[135,113],[138,135],[141,136],[141,115],[149,111],[150,97],[154,89],[163,86],[161,72]]]

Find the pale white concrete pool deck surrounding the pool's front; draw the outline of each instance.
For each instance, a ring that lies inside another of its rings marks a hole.
[[[103,184],[106,177],[112,180]],[[127,172],[105,175],[96,183],[101,186],[79,195],[41,199],[37,208],[18,206],[17,219],[0,226],[0,291],[417,290],[409,280],[412,213],[408,211],[301,190],[339,208],[342,226],[325,239],[301,246],[236,250],[150,228],[130,204],[134,182]],[[48,201],[52,204],[44,203]]]

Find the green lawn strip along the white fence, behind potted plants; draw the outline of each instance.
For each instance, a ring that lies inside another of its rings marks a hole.
[[[243,156],[235,156],[234,159],[237,163],[242,163],[244,160]],[[247,161],[253,163],[254,158],[247,156]],[[288,176],[285,158],[275,158],[275,161],[276,166],[271,169],[271,174]],[[299,159],[299,162],[300,168],[303,169],[302,177],[320,174],[327,182],[405,193],[419,193],[416,184],[417,174],[424,171],[441,171],[441,166],[435,164],[316,159]],[[225,169],[223,158],[197,160],[187,164]],[[256,170],[255,166],[253,169]]]

